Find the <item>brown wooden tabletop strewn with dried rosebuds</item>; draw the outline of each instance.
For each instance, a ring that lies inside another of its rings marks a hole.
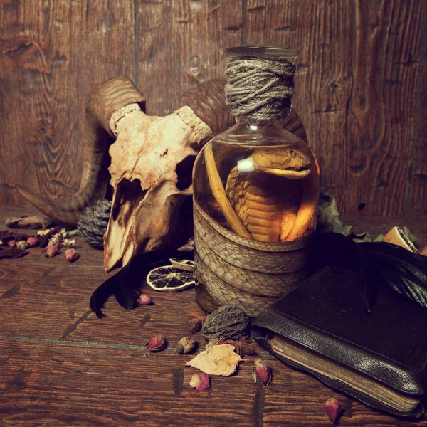
[[[0,208],[0,216],[30,209]],[[345,218],[357,231],[376,233],[408,225],[427,243],[427,220]],[[102,320],[90,312],[104,273],[102,251],[78,237],[81,258],[44,258],[32,248],[24,258],[0,260],[0,424],[3,426],[331,426],[323,404],[344,406],[340,426],[427,426],[374,411],[281,363],[260,347],[273,368],[268,386],[253,384],[255,357],[246,356],[231,377],[211,377],[211,388],[189,386],[191,355],[174,353],[189,334],[187,313],[201,310],[194,290],[142,289],[154,305],[124,310],[114,298]],[[145,349],[157,334],[169,347]],[[197,334],[199,341],[201,337]]]

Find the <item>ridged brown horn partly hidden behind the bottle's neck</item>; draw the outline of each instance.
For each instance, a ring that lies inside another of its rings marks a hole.
[[[225,80],[217,78],[201,83],[182,95],[184,105],[188,105],[211,128],[214,135],[224,132],[236,122],[226,105],[225,85]],[[285,130],[307,142],[304,125],[295,110],[290,110],[290,114],[282,120]]]

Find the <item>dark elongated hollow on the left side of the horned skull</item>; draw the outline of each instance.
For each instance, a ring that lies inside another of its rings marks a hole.
[[[115,202],[111,211],[112,220],[118,226],[125,227],[145,194],[147,194],[147,190],[141,188],[139,179],[135,179],[135,181],[122,179],[116,188]]]

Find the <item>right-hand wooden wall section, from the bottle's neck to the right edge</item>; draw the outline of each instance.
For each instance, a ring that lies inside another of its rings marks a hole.
[[[423,1],[247,1],[246,43],[300,51],[295,107],[344,214],[406,213],[425,10]],[[411,200],[418,216],[424,167]]]

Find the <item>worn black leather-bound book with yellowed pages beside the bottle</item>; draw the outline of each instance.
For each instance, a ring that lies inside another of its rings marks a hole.
[[[367,312],[359,275],[327,266],[261,313],[256,341],[286,364],[396,416],[427,391],[427,310],[379,288]]]

